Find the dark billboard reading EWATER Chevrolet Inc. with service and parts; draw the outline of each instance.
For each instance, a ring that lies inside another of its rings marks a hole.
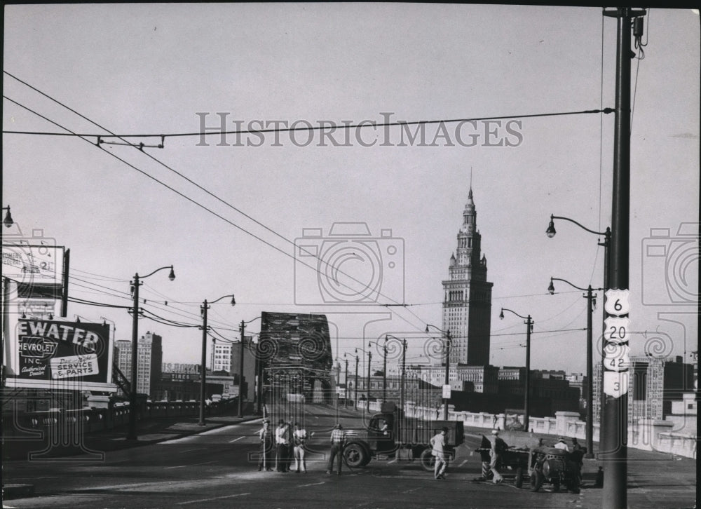
[[[109,325],[20,318],[8,387],[116,391]]]

